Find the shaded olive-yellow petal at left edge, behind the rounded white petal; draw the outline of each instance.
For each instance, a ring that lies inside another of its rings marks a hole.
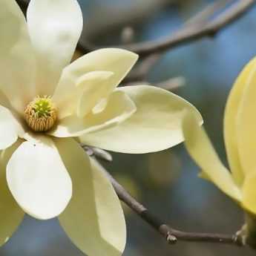
[[[10,148],[1,152],[0,161],[0,246],[9,240],[19,224],[22,223],[24,211],[13,199],[6,182],[6,165],[16,148],[22,141],[17,141]]]

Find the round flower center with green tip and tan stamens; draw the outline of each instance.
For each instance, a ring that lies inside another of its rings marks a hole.
[[[50,96],[36,96],[25,108],[24,117],[33,131],[49,131],[56,122],[57,111]]]

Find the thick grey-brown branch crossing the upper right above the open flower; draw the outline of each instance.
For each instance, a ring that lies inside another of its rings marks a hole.
[[[165,50],[177,47],[178,45],[183,45],[203,37],[214,36],[219,30],[227,27],[229,24],[243,16],[243,14],[245,14],[255,3],[255,0],[239,0],[211,22],[185,26],[168,38],[158,42],[142,42],[132,45],[117,45],[116,47],[134,51],[135,53],[140,54],[140,56],[161,53]],[[83,52],[95,50],[96,48],[97,47],[88,42],[79,43],[79,49]]]

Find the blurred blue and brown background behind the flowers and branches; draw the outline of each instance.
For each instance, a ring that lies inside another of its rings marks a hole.
[[[116,45],[126,40],[129,33],[133,33],[134,42],[170,35],[214,1],[79,2],[85,19],[82,38],[97,45]],[[221,30],[214,39],[200,39],[166,51],[146,77],[153,85],[169,78],[181,79],[184,85],[174,92],[201,111],[209,137],[225,164],[223,111],[226,98],[243,65],[255,55],[256,7]],[[211,183],[197,177],[199,170],[183,145],[154,154],[113,154],[113,157],[113,163],[104,163],[108,171],[172,227],[188,232],[234,233],[243,225],[243,212],[235,203]],[[255,255],[250,249],[220,244],[179,242],[170,246],[140,217],[125,206],[124,209],[128,226],[125,256]],[[0,249],[0,255],[83,254],[73,246],[57,220],[44,222],[25,217],[16,234]]]

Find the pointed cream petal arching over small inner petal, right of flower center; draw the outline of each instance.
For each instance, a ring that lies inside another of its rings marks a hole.
[[[63,70],[59,85],[54,92],[56,100],[62,97],[64,91],[68,94],[73,93],[73,88],[76,87],[79,79],[88,72],[105,70],[114,73],[105,86],[116,88],[137,62],[137,59],[136,53],[116,48],[94,50],[85,54]]]

